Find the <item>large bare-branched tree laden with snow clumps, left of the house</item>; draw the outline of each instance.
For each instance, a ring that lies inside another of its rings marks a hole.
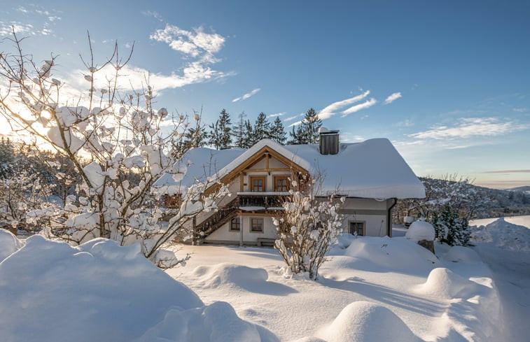
[[[38,66],[32,55],[22,52],[22,40],[14,32],[5,41],[14,43],[17,52],[0,54],[1,115],[15,131],[46,143],[39,145],[51,145],[66,157],[74,176],[82,180],[62,204],[30,211],[27,222],[43,227],[44,235],[71,244],[96,237],[121,245],[139,242],[146,257],[167,266],[172,258],[158,255],[161,246],[188,235],[186,222],[202,211],[214,210],[214,198],[225,192],[218,187],[221,190],[205,200],[203,192],[210,184],[197,183],[183,191],[180,208],[160,208],[162,193],[153,188],[155,181],[165,173],[179,179],[186,173],[182,167],[174,169],[172,156],[182,151],[168,146],[179,145],[175,142],[188,129],[187,117],[169,119],[166,108],[155,108],[155,92],[147,76],[142,89],[125,91],[128,83],[121,82],[120,70],[130,55],[124,61],[115,48],[109,59],[97,65],[90,36],[90,62],[82,59],[81,82],[86,91],[76,91],[52,77],[53,55]],[[195,123],[199,122],[195,115]],[[171,217],[169,222],[162,223],[162,214]]]

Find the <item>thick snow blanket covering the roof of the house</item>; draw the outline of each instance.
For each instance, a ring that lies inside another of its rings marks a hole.
[[[337,155],[321,155],[318,144],[284,146],[269,139],[259,141],[248,150],[194,148],[179,161],[180,164],[188,165],[186,176],[181,182],[175,182],[172,175],[166,174],[155,186],[188,187],[196,179],[204,179],[205,176],[220,179],[265,146],[312,175],[321,173],[321,194],[338,192],[348,197],[372,199],[425,197],[424,185],[386,138],[341,143]]]

